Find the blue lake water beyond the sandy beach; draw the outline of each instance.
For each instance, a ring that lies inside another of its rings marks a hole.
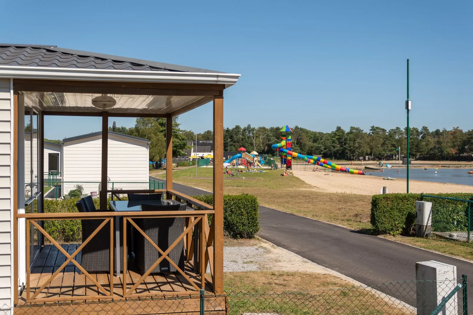
[[[399,173],[397,172],[398,169]],[[409,179],[426,182],[473,185],[473,174],[467,173],[470,170],[471,169],[465,168],[409,168]],[[384,172],[370,172],[369,170],[364,171],[366,171],[367,176],[371,175],[403,179],[406,179],[407,177],[407,170],[405,168],[384,168]]]

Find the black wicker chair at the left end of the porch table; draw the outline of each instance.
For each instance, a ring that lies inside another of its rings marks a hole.
[[[90,200],[88,200],[90,197]],[[94,212],[95,206],[91,196],[82,198],[76,202],[79,212]],[[91,210],[93,207],[94,210]],[[81,209],[82,208],[82,209]],[[83,211],[82,211],[83,210]],[[96,210],[95,210],[96,211]],[[81,220],[82,242],[84,242],[94,231],[102,224],[103,219],[85,219]],[[120,220],[120,230],[123,231],[123,223]],[[116,240],[114,240],[116,242]],[[114,245],[115,249],[115,245]],[[115,252],[115,251],[114,251]],[[115,253],[114,253],[115,254]],[[120,256],[123,255],[123,241],[120,238]],[[115,255],[114,255],[115,259]],[[82,248],[80,265],[87,272],[106,272],[110,271],[110,223],[104,227]],[[114,263],[114,269],[115,269]],[[123,271],[123,259],[120,259],[120,269]]]

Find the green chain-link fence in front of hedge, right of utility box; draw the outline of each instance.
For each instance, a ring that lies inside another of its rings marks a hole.
[[[432,202],[432,232],[458,241],[471,241],[473,196],[441,197],[420,195]]]

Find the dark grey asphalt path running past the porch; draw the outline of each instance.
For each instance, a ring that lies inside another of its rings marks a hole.
[[[190,196],[208,193],[176,183],[173,189]],[[259,236],[368,286],[415,280],[416,262],[455,265],[457,278],[462,274],[471,277],[468,297],[473,301],[473,263],[263,206],[259,214]],[[415,306],[415,283],[377,289]]]

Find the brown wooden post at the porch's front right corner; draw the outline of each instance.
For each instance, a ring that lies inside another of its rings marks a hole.
[[[215,293],[223,292],[223,92],[213,99],[213,209]]]

